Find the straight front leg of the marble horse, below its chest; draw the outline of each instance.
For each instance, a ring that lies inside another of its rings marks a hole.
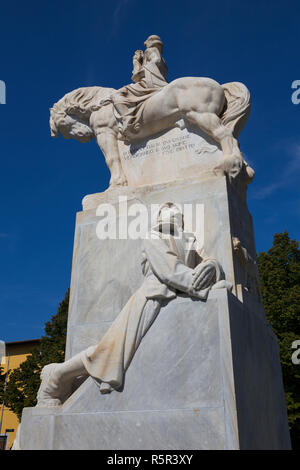
[[[110,188],[115,186],[126,186],[128,183],[121,165],[118,141],[115,132],[110,129],[102,129],[101,132],[97,133],[97,143],[103,152],[106,164],[111,174],[109,182]]]

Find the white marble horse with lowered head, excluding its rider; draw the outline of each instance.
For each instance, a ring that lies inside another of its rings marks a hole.
[[[112,88],[86,87],[67,93],[51,109],[51,135],[88,142],[94,137],[111,172],[110,188],[126,185],[118,148],[118,121],[110,96]],[[233,180],[243,171],[246,183],[254,177],[239,149],[237,137],[250,112],[250,93],[240,82],[220,85],[210,78],[184,77],[168,83],[144,105],[138,129],[129,142],[149,138],[176,126],[180,119],[209,134],[220,145],[223,158],[217,172]]]

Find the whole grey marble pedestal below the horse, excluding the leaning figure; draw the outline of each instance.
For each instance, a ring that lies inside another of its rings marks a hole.
[[[207,172],[84,199],[76,221],[66,359],[96,344],[142,283],[141,240],[96,235],[97,207],[117,206],[120,195],[128,207],[202,205],[201,242],[221,263],[232,293],[220,289],[206,302],[178,296],[165,304],[130,364],[123,391],[101,395],[88,379],[62,407],[25,408],[21,449],[289,448],[278,347],[261,304],[252,220],[225,177]]]

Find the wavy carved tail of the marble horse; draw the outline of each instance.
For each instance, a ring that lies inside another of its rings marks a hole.
[[[250,114],[250,92],[240,82],[224,83],[225,106],[220,116],[224,126],[231,129],[234,137],[238,137]]]

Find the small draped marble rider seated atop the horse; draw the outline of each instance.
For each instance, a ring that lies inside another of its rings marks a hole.
[[[142,125],[145,102],[167,85],[167,66],[162,57],[163,43],[159,36],[152,35],[144,43],[146,50],[138,50],[133,56],[133,84],[113,93],[109,102],[114,106],[121,140],[137,134]],[[106,103],[108,100],[105,100]]]

